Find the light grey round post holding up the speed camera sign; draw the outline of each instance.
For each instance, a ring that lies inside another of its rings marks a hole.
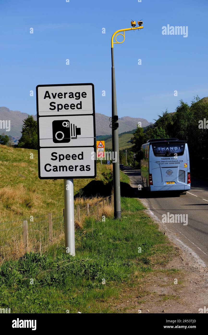
[[[64,179],[63,185],[64,185],[65,249],[66,253],[75,256],[73,179]]]

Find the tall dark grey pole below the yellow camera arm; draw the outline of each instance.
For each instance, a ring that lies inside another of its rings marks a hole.
[[[111,60],[112,60],[112,121],[115,115],[117,115],[117,103],[116,103],[116,80],[115,80],[115,67],[114,67],[114,48],[111,48]],[[121,217],[121,190],[120,190],[120,168],[119,168],[119,131],[114,129],[112,122],[112,150],[114,157],[117,160],[113,161],[113,183],[114,183],[114,218],[119,219]]]

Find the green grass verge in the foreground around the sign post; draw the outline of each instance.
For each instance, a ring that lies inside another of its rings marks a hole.
[[[11,308],[11,313],[112,313],[110,301],[119,297],[123,285],[131,287],[138,277],[153,271],[154,255],[160,262],[172,251],[142,209],[137,199],[122,198],[121,221],[86,218],[84,229],[76,230],[75,257],[64,253],[61,241],[42,257],[28,253],[4,261],[1,308]]]

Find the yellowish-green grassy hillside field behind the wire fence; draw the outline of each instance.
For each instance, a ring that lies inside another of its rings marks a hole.
[[[109,169],[98,163],[95,179],[74,179],[74,195],[91,181],[108,184]],[[38,178],[37,150],[0,145],[0,223],[59,212],[63,206],[63,180]]]

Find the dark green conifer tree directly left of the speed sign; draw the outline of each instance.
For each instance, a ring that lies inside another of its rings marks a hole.
[[[19,140],[18,147],[27,149],[37,149],[37,122],[29,115],[23,121],[22,136]]]

